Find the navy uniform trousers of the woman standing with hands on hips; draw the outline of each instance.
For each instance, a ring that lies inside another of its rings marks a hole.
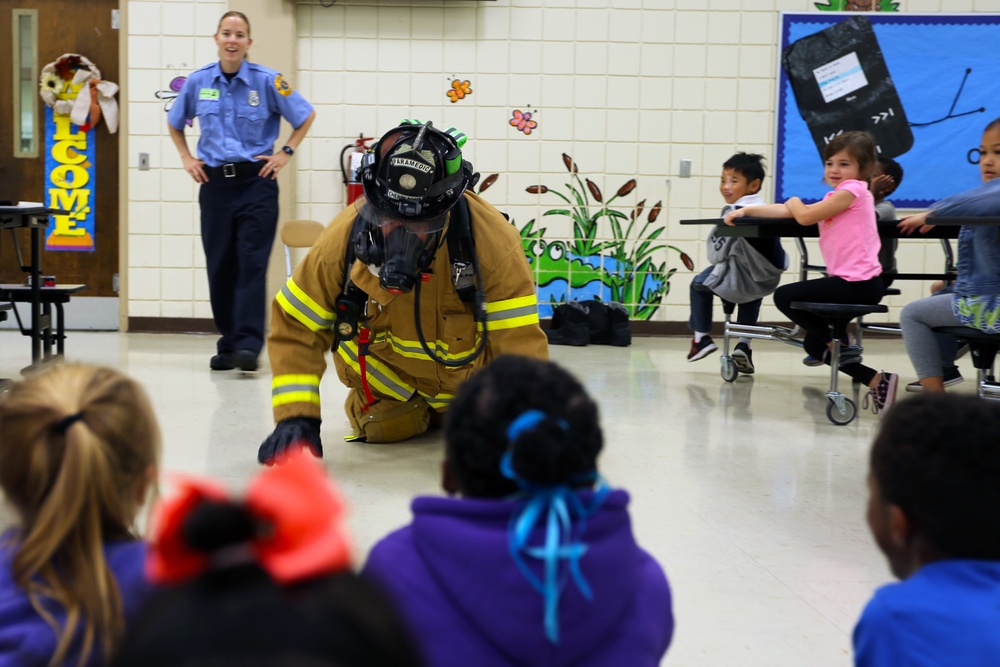
[[[201,244],[219,353],[260,352],[267,262],[278,226],[278,183],[256,173],[210,176],[198,194]]]

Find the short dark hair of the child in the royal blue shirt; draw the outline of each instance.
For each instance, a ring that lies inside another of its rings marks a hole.
[[[1000,403],[933,393],[896,403],[871,471],[883,500],[936,549],[1000,560]]]

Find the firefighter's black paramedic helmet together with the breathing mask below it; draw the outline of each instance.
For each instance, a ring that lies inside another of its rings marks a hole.
[[[434,261],[448,211],[475,180],[463,143],[457,130],[404,122],[362,158],[351,242],[386,291],[410,292]]]

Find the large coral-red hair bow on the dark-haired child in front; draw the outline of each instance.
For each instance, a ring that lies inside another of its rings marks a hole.
[[[225,490],[215,482],[178,480],[178,492],[162,501],[154,514],[153,543],[146,559],[151,581],[180,583],[209,569],[211,556],[188,547],[182,526],[200,503],[226,499]],[[322,466],[304,449],[258,474],[243,506],[268,528],[249,546],[260,566],[279,583],[292,584],[350,567],[344,502]]]

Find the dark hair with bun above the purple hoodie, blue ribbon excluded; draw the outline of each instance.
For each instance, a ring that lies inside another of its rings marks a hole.
[[[510,423],[528,410],[546,418],[515,441]],[[462,384],[445,423],[448,466],[462,494],[501,498],[518,490],[500,472],[510,448],[514,471],[536,484],[572,483],[593,472],[604,438],[597,404],[583,385],[554,363],[497,357]]]

